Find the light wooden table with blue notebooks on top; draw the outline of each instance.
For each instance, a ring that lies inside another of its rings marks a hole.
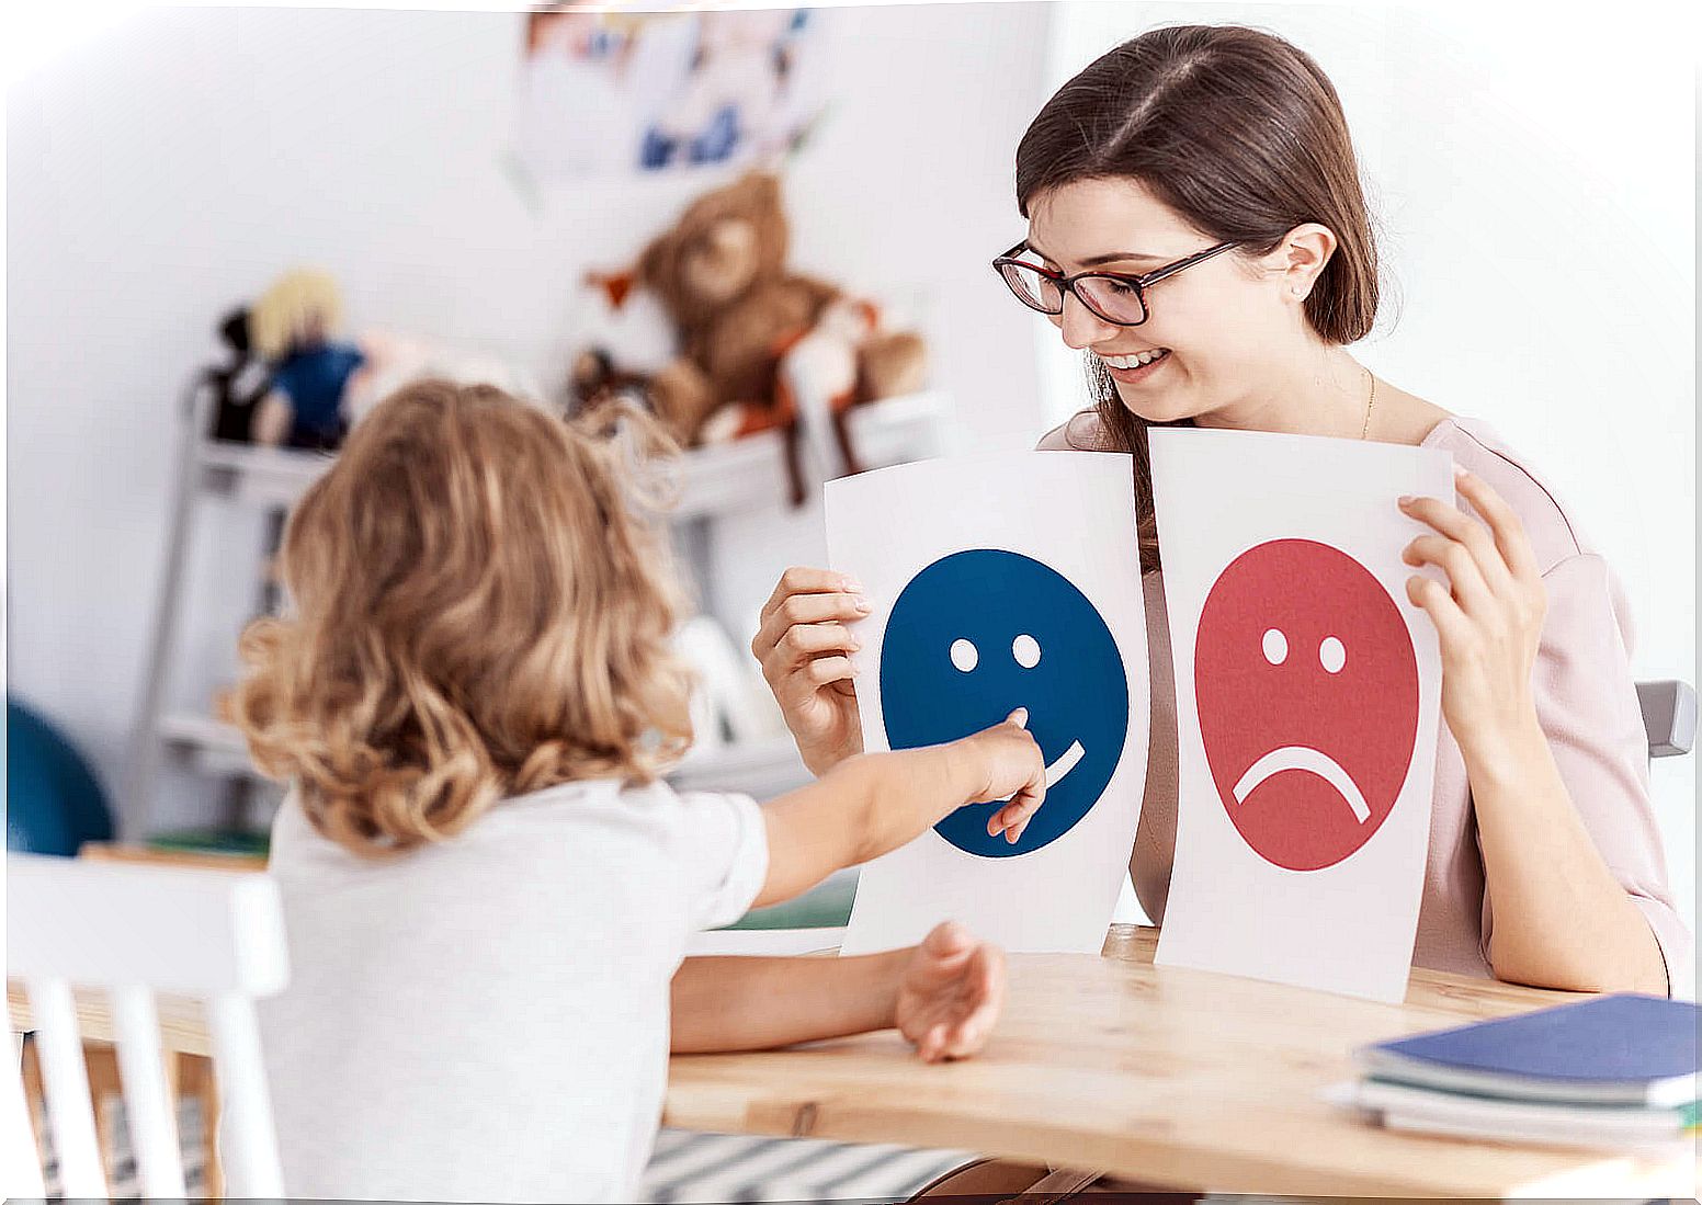
[[[1467,1142],[1360,1123],[1319,1099],[1355,1047],[1573,999],[1414,970],[1375,1004],[1154,967],[1154,929],[1105,957],[1013,955],[987,1050],[924,1065],[897,1033],[737,1055],[677,1055],[664,1122],[985,1151],[1145,1183],[1294,1196],[1697,1196],[1695,1144],[1670,1157]],[[27,1002],[9,984],[14,1028]],[[99,996],[85,1033],[111,1038]],[[199,1009],[160,1001],[167,1048],[208,1054]]]

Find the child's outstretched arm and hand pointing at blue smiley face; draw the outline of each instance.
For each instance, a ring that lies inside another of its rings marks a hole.
[[[756,905],[788,900],[836,870],[897,849],[965,803],[1011,800],[987,832],[1014,842],[1047,793],[1045,757],[1023,725],[1004,723],[928,749],[856,754],[762,808],[768,880]]]

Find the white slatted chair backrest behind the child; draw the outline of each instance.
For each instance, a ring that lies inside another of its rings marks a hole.
[[[289,979],[283,905],[271,878],[9,854],[7,977],[29,994],[66,1198],[107,1196],[73,987],[111,999],[143,1196],[186,1196],[155,994],[199,1001],[206,1013],[228,1193],[284,1195],[254,1009]],[[17,1179],[0,1183],[0,1191],[44,1195],[15,1057],[0,1074],[0,1168]]]

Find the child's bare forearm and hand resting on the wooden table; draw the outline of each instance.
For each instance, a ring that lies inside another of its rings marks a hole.
[[[897,1026],[934,1062],[975,1054],[999,1016],[1004,955],[960,924],[861,958],[686,958],[674,1054],[762,1050]]]

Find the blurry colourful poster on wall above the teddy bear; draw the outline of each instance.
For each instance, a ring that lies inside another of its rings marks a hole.
[[[526,15],[519,158],[538,182],[768,163],[825,102],[808,9]]]

